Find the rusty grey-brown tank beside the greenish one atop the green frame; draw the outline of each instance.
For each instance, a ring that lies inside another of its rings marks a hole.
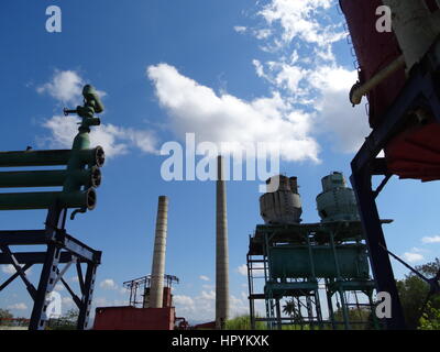
[[[302,213],[297,177],[277,175],[266,180],[267,193],[260,197],[260,215],[265,223],[299,223]]]

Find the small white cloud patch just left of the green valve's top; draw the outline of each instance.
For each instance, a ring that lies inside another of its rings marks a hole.
[[[51,81],[36,88],[38,94],[48,94],[65,103],[77,103],[81,100],[82,78],[74,70],[55,70]]]

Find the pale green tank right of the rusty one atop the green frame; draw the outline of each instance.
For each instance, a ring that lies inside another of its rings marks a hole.
[[[318,213],[322,222],[359,220],[353,189],[346,187],[342,173],[322,178],[322,193],[317,196]]]

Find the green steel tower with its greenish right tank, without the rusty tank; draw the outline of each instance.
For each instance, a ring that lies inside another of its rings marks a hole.
[[[370,277],[361,221],[353,208],[353,190],[345,186],[341,173],[323,177],[322,187],[317,197],[321,222],[258,224],[250,237],[252,328],[257,321],[266,322],[270,329],[284,324],[298,329],[380,328],[372,315],[375,284]],[[327,297],[327,316],[321,296]],[[264,318],[256,317],[258,299],[265,301]],[[350,318],[353,307],[363,314],[361,319]]]

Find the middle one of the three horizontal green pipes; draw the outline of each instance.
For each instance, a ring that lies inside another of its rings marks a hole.
[[[99,187],[101,172],[98,167],[77,169],[72,172],[73,182],[78,186]],[[67,170],[25,170],[0,173],[0,188],[14,187],[56,187],[63,186],[67,178]]]

